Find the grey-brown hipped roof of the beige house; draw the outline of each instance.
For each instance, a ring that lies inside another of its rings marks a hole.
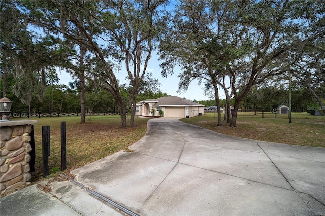
[[[186,100],[177,96],[147,99],[141,102],[154,102],[153,106],[204,106],[200,103],[192,102],[190,100]]]

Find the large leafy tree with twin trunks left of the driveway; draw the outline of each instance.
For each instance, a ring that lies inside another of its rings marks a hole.
[[[165,2],[23,0],[13,1],[5,8],[15,9],[24,16],[25,23],[31,23],[32,27],[43,29],[43,34],[60,40],[58,51],[68,56],[63,55],[66,58],[54,63],[70,69],[80,79],[81,104],[84,104],[84,79],[87,79],[114,97],[122,127],[125,127],[127,100],[120,94],[116,73],[123,62],[131,87],[128,95],[132,101],[130,125],[134,126],[137,95],[161,30],[159,11],[164,9]]]

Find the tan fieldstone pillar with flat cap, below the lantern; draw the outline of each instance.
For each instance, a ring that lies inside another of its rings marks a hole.
[[[30,184],[28,154],[31,125],[35,120],[0,122],[0,195]]]

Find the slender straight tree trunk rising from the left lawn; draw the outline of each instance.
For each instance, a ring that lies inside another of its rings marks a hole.
[[[83,68],[83,59],[86,49],[81,45],[80,46],[80,59],[79,59],[79,68],[80,68],[80,112],[81,112],[81,123],[86,123],[86,108],[85,108],[85,72]]]

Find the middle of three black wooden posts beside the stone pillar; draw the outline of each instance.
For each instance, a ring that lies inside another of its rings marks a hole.
[[[43,177],[49,174],[50,126],[42,126]]]

